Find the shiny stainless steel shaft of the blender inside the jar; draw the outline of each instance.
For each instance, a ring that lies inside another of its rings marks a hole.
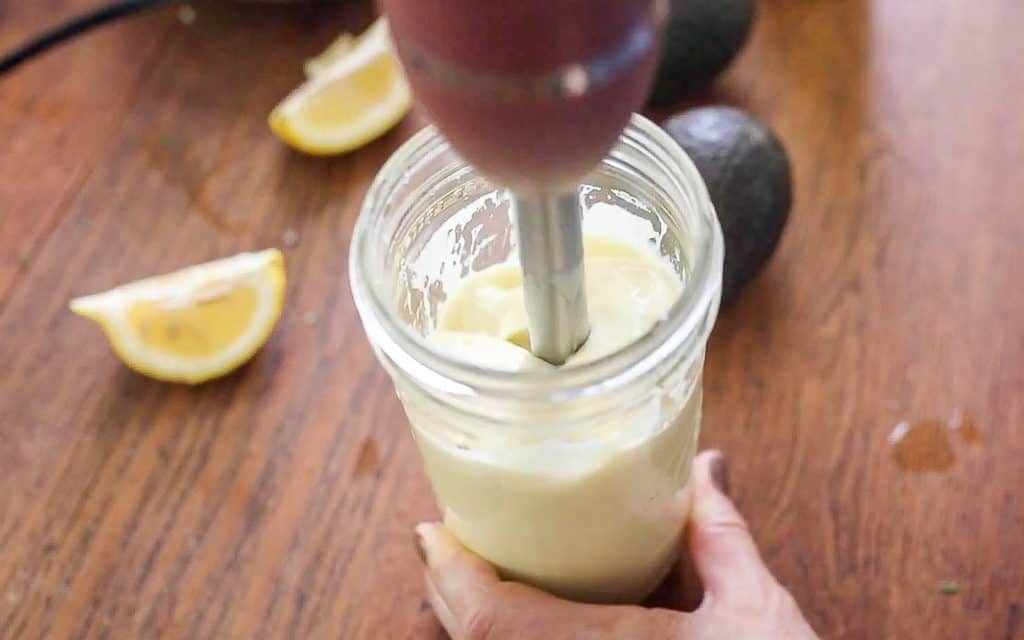
[[[575,190],[513,194],[529,348],[561,365],[587,340],[583,221]]]

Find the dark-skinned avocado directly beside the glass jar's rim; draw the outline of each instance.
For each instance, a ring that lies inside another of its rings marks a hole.
[[[718,211],[725,236],[724,306],[778,245],[793,205],[790,160],[771,129],[731,106],[693,109],[663,126],[693,159]]]

